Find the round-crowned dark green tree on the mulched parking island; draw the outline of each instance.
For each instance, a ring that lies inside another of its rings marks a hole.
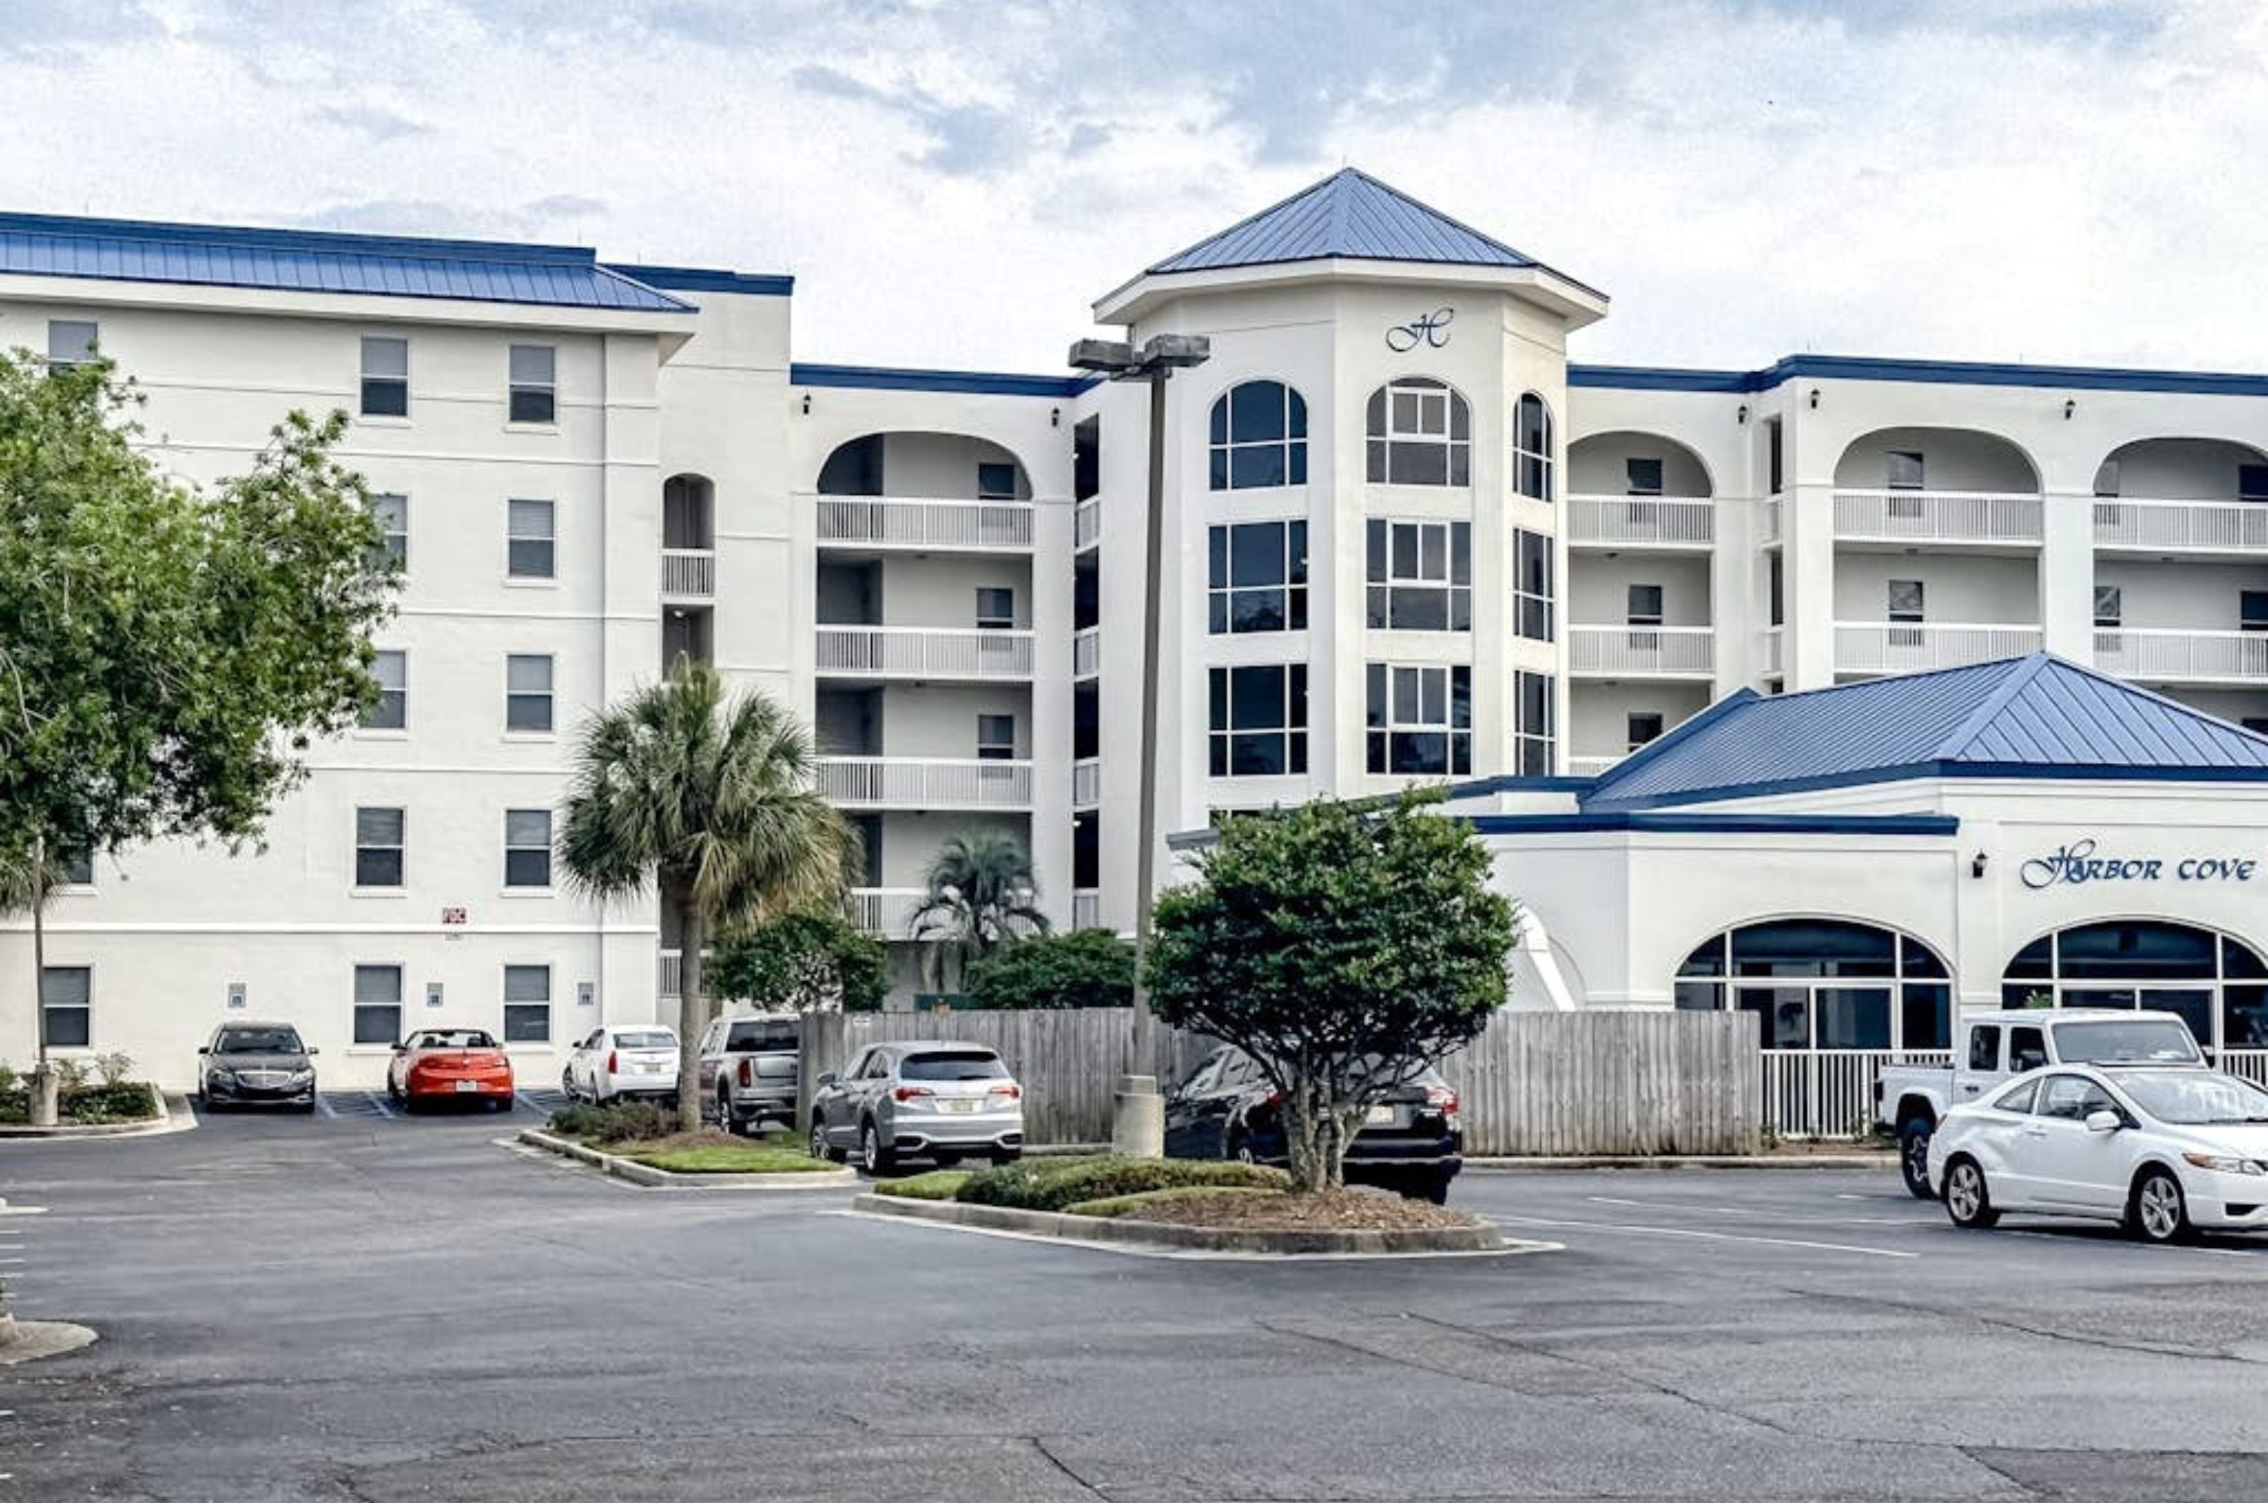
[[[1472,1042],[1506,999],[1513,904],[1438,795],[1232,817],[1159,895],[1150,1006],[1284,1092],[1293,1183],[1340,1185],[1368,1106]]]

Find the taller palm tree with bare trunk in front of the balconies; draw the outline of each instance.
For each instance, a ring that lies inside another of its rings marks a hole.
[[[560,867],[574,892],[599,901],[653,883],[676,920],[680,1124],[701,1119],[701,947],[726,929],[839,901],[855,842],[812,792],[803,724],[764,695],[730,695],[714,667],[678,658],[665,681],[583,731]]]

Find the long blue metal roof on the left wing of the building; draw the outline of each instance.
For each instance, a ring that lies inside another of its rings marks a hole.
[[[0,272],[692,313],[576,245],[0,213]]]

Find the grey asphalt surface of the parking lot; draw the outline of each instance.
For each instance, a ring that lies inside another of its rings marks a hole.
[[[1472,1174],[1565,1251],[1200,1262],[649,1192],[510,1115],[0,1144],[0,1498],[2268,1496],[2268,1242],[1889,1172]],[[29,1215],[27,1208],[43,1208]]]

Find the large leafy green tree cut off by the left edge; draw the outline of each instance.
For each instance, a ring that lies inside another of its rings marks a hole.
[[[109,361],[0,352],[0,851],[34,876],[57,851],[256,842],[308,745],[379,692],[397,579],[331,456],[347,415],[288,413],[200,490],[136,447],[138,402]]]

